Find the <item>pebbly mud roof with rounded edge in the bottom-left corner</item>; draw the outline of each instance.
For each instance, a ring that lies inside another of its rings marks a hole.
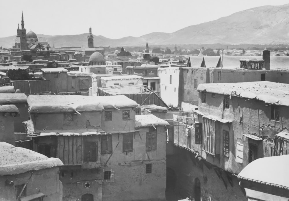
[[[48,158],[32,150],[15,147],[6,142],[0,142],[0,152],[0,175],[21,174],[63,165],[60,159]]]

